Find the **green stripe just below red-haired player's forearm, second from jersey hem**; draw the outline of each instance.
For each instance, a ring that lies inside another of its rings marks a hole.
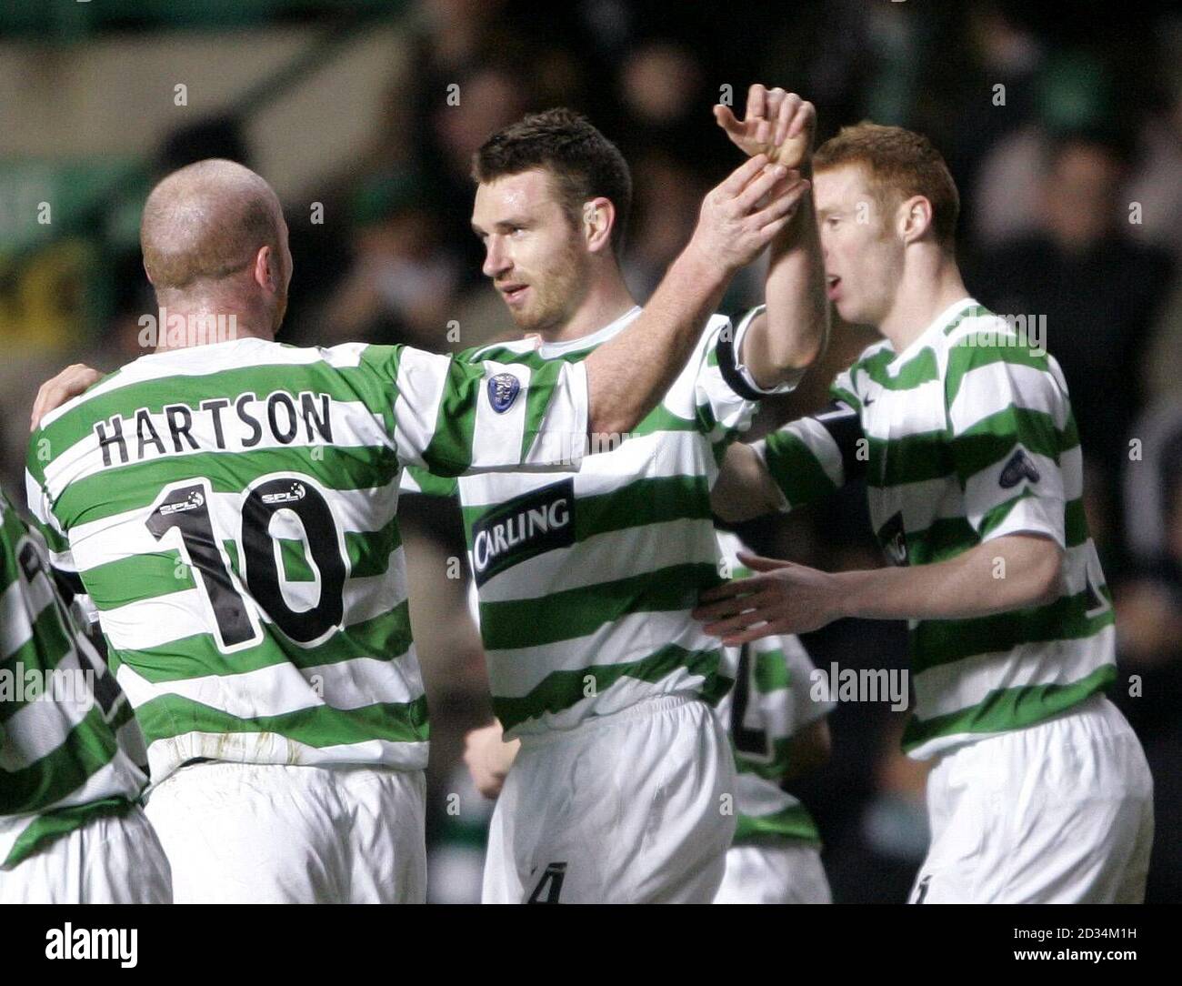
[[[1099,591],[1109,602],[1096,616],[1085,616],[1087,592],[1060,596],[1032,609],[979,616],[973,620],[924,620],[910,631],[911,668],[918,674],[976,654],[1013,650],[1024,643],[1084,640],[1113,622],[1112,596],[1106,585]]]

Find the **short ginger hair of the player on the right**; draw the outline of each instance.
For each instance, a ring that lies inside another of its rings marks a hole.
[[[860,164],[870,177],[871,189],[879,201],[895,196],[902,202],[922,195],[931,203],[931,228],[936,242],[953,248],[960,194],[952,173],[931,141],[902,127],[882,127],[863,121],[843,127],[813,155],[813,170]]]

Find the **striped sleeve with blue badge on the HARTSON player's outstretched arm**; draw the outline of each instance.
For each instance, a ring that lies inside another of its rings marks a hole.
[[[394,443],[403,466],[439,476],[578,469],[587,432],[586,368],[552,361],[467,363],[392,346]]]

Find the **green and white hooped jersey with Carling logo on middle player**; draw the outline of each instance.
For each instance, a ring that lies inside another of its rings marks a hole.
[[[664,694],[714,703],[729,686],[717,640],[689,614],[720,580],[717,462],[762,396],[735,357],[759,311],[735,327],[712,317],[661,403],[579,473],[460,478],[493,711],[507,737],[571,728]],[[578,364],[639,312],[579,339],[522,339],[460,358]],[[411,474],[404,488],[455,492]]]

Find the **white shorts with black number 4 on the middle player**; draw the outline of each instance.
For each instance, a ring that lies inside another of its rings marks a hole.
[[[493,812],[485,903],[709,903],[734,755],[704,702],[652,699],[525,737]]]

